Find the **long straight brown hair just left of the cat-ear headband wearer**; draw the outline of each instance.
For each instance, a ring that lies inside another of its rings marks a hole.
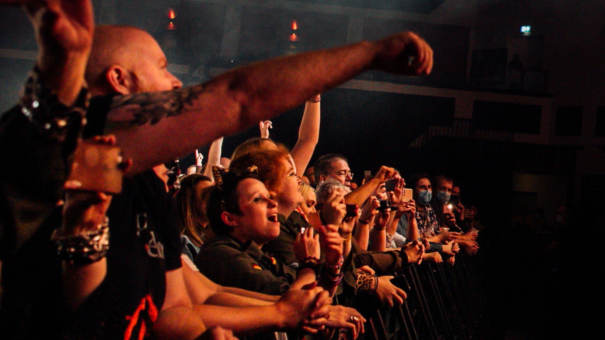
[[[203,244],[204,224],[208,223],[205,214],[198,209],[198,204],[203,200],[202,195],[197,195],[195,186],[200,181],[212,182],[210,178],[201,174],[186,175],[181,178],[181,188],[175,197],[178,206],[178,219],[180,232],[191,240],[193,244],[200,247]]]

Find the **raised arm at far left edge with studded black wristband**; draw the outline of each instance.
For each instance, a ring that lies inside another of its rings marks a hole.
[[[19,105],[0,119],[2,258],[34,234],[62,197],[82,125],[79,113],[86,110],[85,92],[79,94],[94,22],[90,0],[0,0],[0,5],[24,6],[39,48]]]

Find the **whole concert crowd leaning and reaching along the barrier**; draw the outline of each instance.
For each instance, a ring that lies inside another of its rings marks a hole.
[[[39,43],[0,119],[3,338],[355,339],[362,307],[404,303],[398,270],[479,249],[452,178],[382,166],[356,183],[341,154],[310,166],[318,93],[369,69],[430,73],[416,34],[184,88],[151,35],[94,27],[90,0],[0,4],[23,5]],[[271,140],[266,119],[305,100],[296,145]],[[223,136],[258,122],[222,157]],[[208,143],[180,175],[174,160]]]

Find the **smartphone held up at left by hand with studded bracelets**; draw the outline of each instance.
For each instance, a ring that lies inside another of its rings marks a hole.
[[[81,183],[79,190],[119,194],[122,192],[121,162],[122,151],[117,146],[84,141],[74,152],[67,180]]]

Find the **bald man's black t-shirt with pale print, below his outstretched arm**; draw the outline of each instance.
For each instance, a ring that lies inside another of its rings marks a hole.
[[[181,267],[178,224],[153,171],[126,178],[107,213],[107,275],[68,323],[67,338],[137,338],[162,309],[165,272]],[[131,336],[128,336],[131,335]]]

